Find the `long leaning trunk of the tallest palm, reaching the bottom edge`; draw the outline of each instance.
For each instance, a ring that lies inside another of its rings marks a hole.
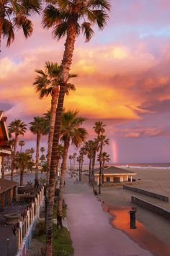
[[[66,92],[66,82],[68,80],[68,74],[71,68],[74,43],[76,40],[76,23],[68,22],[67,38],[65,43],[65,51],[63,54],[63,60],[61,62],[61,86],[58,97],[58,107],[55,115],[55,128],[53,135],[53,147],[50,163],[50,179],[48,188],[48,208],[47,208],[47,221],[46,221],[46,256],[52,256],[52,226],[53,226],[53,205],[55,196],[55,174],[57,168],[57,155],[58,155],[58,142],[61,131],[61,114],[63,111],[63,101]]]

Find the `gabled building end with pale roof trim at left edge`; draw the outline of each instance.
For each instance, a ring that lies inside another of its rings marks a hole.
[[[9,144],[9,134],[6,127],[7,117],[0,111],[0,178],[1,178],[1,161],[4,156],[11,155],[11,146]]]

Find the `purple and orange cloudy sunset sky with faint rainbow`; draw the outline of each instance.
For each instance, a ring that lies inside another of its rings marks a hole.
[[[66,109],[79,109],[93,137],[94,121],[107,124],[112,163],[170,162],[170,1],[112,0],[109,22],[95,30],[89,43],[76,40],[71,72],[76,92],[66,97]],[[16,34],[12,46],[2,42],[0,59],[0,110],[8,123],[50,108],[50,98],[40,100],[32,82],[35,69],[45,61],[58,61],[64,39],[53,40],[35,16],[34,33]],[[22,137],[21,137],[22,138]],[[35,136],[24,136],[25,148]],[[46,145],[46,139],[42,141]]]

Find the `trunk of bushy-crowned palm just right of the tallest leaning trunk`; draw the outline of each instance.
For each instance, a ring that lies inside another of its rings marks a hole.
[[[60,182],[60,192],[58,197],[58,210],[57,210],[57,224],[58,224],[58,227],[61,229],[63,228],[63,223],[62,223],[63,187],[64,187],[66,168],[67,168],[67,155],[68,155],[69,144],[70,144],[69,139],[64,141],[63,161],[61,164],[61,182]]]

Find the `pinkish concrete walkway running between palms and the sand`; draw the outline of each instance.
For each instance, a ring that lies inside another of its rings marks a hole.
[[[74,256],[151,256],[122,231],[109,223],[111,216],[86,184],[74,184],[66,177],[64,198],[68,205],[68,226]]]

